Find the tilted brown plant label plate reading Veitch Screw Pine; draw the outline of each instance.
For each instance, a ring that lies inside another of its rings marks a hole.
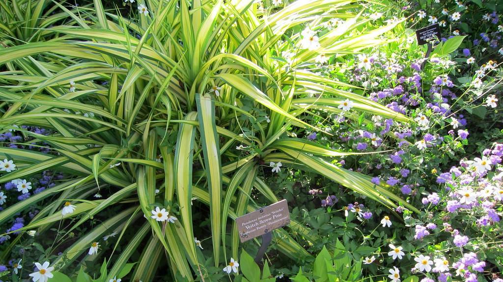
[[[286,200],[281,200],[236,218],[241,243],[262,236],[289,223],[290,212]]]

